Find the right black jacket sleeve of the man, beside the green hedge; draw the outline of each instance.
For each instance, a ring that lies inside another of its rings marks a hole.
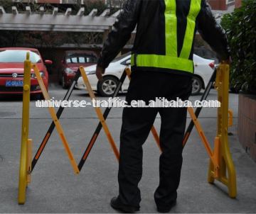
[[[206,0],[202,0],[201,11],[198,15],[198,32],[203,40],[217,53],[219,60],[228,60],[230,50],[223,28],[215,21],[213,13]]]

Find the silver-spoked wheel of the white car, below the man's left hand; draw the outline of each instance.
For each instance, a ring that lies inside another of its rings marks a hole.
[[[117,89],[118,80],[115,77],[103,77],[97,84],[97,91],[101,96],[112,96]]]

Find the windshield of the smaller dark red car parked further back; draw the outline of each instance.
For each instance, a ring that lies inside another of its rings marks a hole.
[[[66,58],[67,63],[97,63],[95,55],[88,55],[84,53],[68,53]]]

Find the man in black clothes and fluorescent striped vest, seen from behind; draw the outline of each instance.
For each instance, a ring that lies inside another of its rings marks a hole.
[[[193,75],[193,41],[196,31],[220,60],[230,53],[223,29],[206,0],[127,0],[108,35],[97,63],[97,77],[122,50],[137,26],[132,48],[132,80],[127,103],[156,97],[187,100]],[[159,186],[154,193],[159,212],[176,204],[181,176],[182,140],[186,108],[124,108],[120,135],[119,196],[111,205],[123,212],[139,210],[138,184],[142,178],[142,145],[156,114],[161,116]]]

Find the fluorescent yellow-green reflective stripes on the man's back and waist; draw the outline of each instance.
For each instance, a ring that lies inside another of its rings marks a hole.
[[[178,0],[179,1],[179,0]],[[201,0],[191,0],[187,16],[186,33],[181,54],[178,57],[176,0],[165,0],[166,55],[132,55],[131,64],[137,67],[176,69],[193,73],[193,60],[188,60],[193,45],[196,17],[201,10]],[[136,61],[136,63],[135,63]]]

